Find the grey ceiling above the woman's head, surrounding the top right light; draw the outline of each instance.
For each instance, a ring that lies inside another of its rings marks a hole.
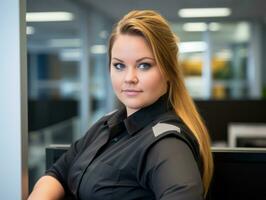
[[[266,20],[265,0],[80,0],[80,2],[97,8],[115,20],[132,9],[153,9],[168,20],[178,22],[184,21],[177,16],[177,11],[181,8],[209,7],[231,8],[232,15],[222,20]]]

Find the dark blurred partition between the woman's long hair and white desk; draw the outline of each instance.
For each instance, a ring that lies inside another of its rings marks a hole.
[[[266,123],[265,99],[195,100],[213,142],[227,142],[228,124]]]

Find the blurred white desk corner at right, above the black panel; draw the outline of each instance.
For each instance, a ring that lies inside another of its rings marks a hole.
[[[230,123],[229,147],[266,147],[265,123]]]

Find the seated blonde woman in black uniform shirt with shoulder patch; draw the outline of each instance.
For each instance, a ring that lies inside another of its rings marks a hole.
[[[111,81],[124,107],[75,142],[29,199],[203,199],[210,141],[177,54],[177,38],[158,13],[124,16],[109,43]]]

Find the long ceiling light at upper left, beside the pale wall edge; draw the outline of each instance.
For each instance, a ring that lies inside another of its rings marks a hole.
[[[70,12],[30,12],[26,14],[27,22],[72,21],[74,15]]]

